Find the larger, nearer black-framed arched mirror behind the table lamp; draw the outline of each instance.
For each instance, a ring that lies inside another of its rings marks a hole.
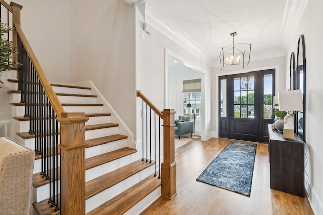
[[[297,64],[296,64],[296,89],[302,90],[303,96],[303,111],[296,112],[296,134],[305,142],[305,89],[306,89],[306,58],[305,58],[305,40],[304,35],[300,35],[297,45]]]

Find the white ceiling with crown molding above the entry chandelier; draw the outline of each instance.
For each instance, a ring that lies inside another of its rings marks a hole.
[[[135,0],[125,0],[134,3]],[[252,60],[287,54],[308,0],[139,0],[145,22],[210,66],[223,46],[252,43]],[[151,33],[151,32],[150,32]],[[152,31],[153,34],[153,31]]]

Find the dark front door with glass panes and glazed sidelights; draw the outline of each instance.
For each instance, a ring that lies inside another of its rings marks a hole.
[[[268,142],[275,69],[219,77],[219,137]]]

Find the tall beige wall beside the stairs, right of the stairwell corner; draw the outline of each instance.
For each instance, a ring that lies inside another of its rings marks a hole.
[[[70,0],[71,80],[91,80],[135,133],[135,13],[123,0]]]

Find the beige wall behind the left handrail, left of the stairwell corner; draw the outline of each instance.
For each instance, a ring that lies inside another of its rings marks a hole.
[[[23,6],[21,28],[48,80],[70,83],[69,1],[17,0],[15,3]]]

